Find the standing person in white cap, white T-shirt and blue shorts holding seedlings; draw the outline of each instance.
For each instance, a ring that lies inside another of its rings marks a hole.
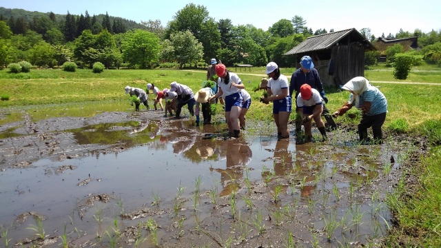
[[[267,97],[263,98],[264,103],[273,102],[273,118],[277,126],[277,138],[289,138],[288,120],[291,114],[291,96],[288,95],[288,79],[280,73],[277,64],[267,64],[269,76],[267,86]]]

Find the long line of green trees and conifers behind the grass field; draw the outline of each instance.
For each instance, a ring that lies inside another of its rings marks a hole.
[[[254,25],[232,25],[229,19],[214,21],[205,6],[189,3],[174,15],[164,27],[159,20],[143,21],[127,27],[127,21],[111,18],[106,13],[100,20],[88,12],[74,16],[68,12],[63,18],[52,12],[3,15],[0,8],[0,65],[29,61],[37,66],[59,66],[74,61],[79,67],[91,67],[101,62],[106,68],[156,68],[200,65],[209,59],[221,59],[232,66],[249,63],[256,66],[275,61],[281,67],[294,67],[294,56],[285,52],[307,37],[325,34],[307,27],[300,16],[280,19],[268,30]],[[32,19],[32,21],[30,21]],[[130,23],[130,21],[128,22]],[[134,22],[133,22],[134,23]],[[132,23],[132,24],[133,24]],[[334,32],[334,30],[329,30]],[[369,28],[359,32],[370,41],[376,37]],[[384,34],[382,34],[384,37]],[[425,34],[421,30],[400,30],[389,38],[418,37],[422,59],[429,55],[429,63],[441,61],[441,33]]]

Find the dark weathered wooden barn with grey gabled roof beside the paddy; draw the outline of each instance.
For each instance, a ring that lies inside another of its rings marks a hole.
[[[377,50],[355,28],[320,34],[305,39],[285,55],[311,56],[323,85],[340,85],[365,76],[365,51]]]

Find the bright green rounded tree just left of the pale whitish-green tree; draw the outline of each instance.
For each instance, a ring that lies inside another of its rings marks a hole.
[[[147,68],[147,65],[156,63],[161,52],[161,45],[156,34],[139,29],[126,32],[121,48],[123,59],[130,65],[139,65],[141,68]]]

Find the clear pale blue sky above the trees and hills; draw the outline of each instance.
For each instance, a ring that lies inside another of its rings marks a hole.
[[[0,7],[55,14],[85,14],[88,10],[91,16],[108,12],[138,23],[159,19],[166,26],[187,3],[205,6],[215,21],[231,19],[233,25],[252,24],[263,30],[295,15],[303,17],[313,31],[371,28],[379,37],[396,34],[400,28],[409,32],[419,28],[426,33],[441,30],[441,0],[0,0]]]

